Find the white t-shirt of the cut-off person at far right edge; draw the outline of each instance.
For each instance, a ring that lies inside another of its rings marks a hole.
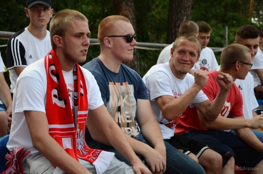
[[[252,63],[253,63],[253,66],[252,66],[251,73],[254,78],[254,87],[257,87],[258,85],[261,85],[261,81],[257,75],[256,70],[263,69],[263,52],[260,50],[259,47],[258,47],[257,54],[255,55]]]

